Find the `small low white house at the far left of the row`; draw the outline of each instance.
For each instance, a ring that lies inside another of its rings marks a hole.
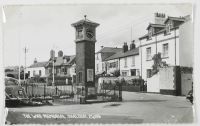
[[[37,62],[34,60],[34,63],[30,65],[26,71],[29,74],[29,78],[39,76],[39,77],[46,77],[45,75],[45,66],[48,62]]]

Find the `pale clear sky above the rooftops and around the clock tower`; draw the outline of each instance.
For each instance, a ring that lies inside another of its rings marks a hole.
[[[104,47],[122,47],[147,33],[154,13],[167,16],[192,15],[191,4],[124,4],[124,5],[26,5],[4,6],[4,66],[25,64],[23,49],[28,48],[27,66],[36,58],[48,61],[50,50],[75,55],[75,29],[71,26],[87,15],[100,26],[96,32],[96,52]]]

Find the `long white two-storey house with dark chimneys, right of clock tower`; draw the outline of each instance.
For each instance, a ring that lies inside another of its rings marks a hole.
[[[140,57],[139,49],[135,48],[134,42],[128,49],[127,43],[124,43],[122,51],[108,57],[107,73],[113,73],[120,70],[121,76],[139,76],[140,75]]]

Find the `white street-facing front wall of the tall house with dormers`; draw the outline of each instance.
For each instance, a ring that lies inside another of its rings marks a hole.
[[[176,46],[175,46],[175,34],[176,34]],[[165,35],[164,33],[152,36],[151,40],[142,39],[140,47],[140,60],[142,60],[142,78],[147,79],[147,69],[152,69],[153,60],[146,59],[146,49],[151,47],[151,57],[156,54],[156,40],[157,40],[157,53],[163,53],[163,44],[168,43],[168,57],[162,58],[162,61],[166,61],[169,66],[175,65],[175,54],[176,54],[176,65],[179,65],[179,29],[171,31],[170,34]],[[176,48],[175,48],[176,47]],[[176,50],[176,53],[175,53]]]

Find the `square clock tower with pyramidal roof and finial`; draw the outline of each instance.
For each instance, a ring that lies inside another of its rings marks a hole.
[[[82,86],[86,99],[96,96],[95,87],[95,42],[98,23],[86,19],[73,23],[76,43],[76,84]]]

